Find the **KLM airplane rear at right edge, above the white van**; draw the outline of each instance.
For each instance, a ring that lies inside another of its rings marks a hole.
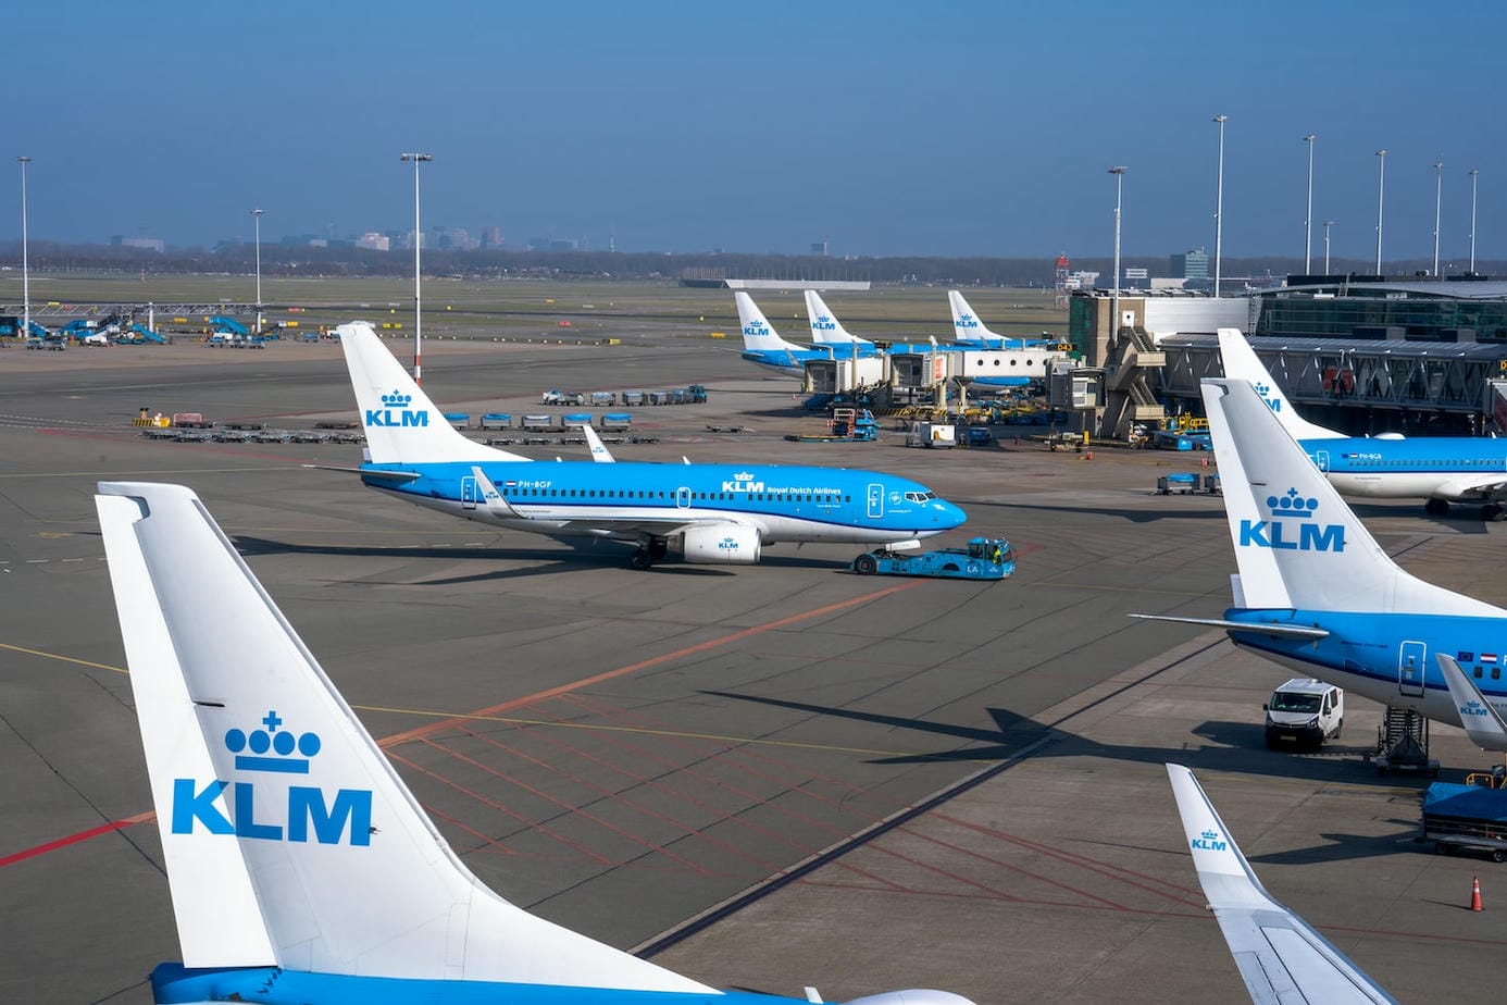
[[[1243,649],[1391,708],[1460,725],[1430,654],[1453,654],[1507,707],[1507,610],[1405,573],[1243,380],[1204,380],[1239,574],[1224,618],[1132,615],[1224,628]]]

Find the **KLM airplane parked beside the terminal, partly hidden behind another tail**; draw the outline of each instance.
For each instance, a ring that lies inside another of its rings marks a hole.
[[[1417,499],[1444,515],[1451,502],[1483,503],[1484,520],[1507,518],[1507,441],[1492,437],[1350,437],[1302,419],[1255,350],[1237,328],[1219,328],[1225,377],[1255,384],[1257,393],[1343,494],[1361,499]]]

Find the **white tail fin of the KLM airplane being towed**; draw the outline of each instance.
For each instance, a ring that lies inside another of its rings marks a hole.
[[[374,464],[530,460],[475,443],[451,428],[365,321],[342,324],[336,331]]]

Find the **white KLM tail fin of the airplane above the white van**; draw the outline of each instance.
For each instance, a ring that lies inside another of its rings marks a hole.
[[[1243,607],[1507,616],[1405,573],[1243,380],[1204,380]]]

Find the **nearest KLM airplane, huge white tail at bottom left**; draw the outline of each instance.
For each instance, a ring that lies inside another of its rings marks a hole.
[[[182,951],[157,1002],[794,1005],[529,915],[434,827],[188,488],[95,496]],[[203,618],[216,597],[234,618]],[[818,1000],[815,993],[811,1000]],[[888,991],[850,1005],[971,1005]]]

